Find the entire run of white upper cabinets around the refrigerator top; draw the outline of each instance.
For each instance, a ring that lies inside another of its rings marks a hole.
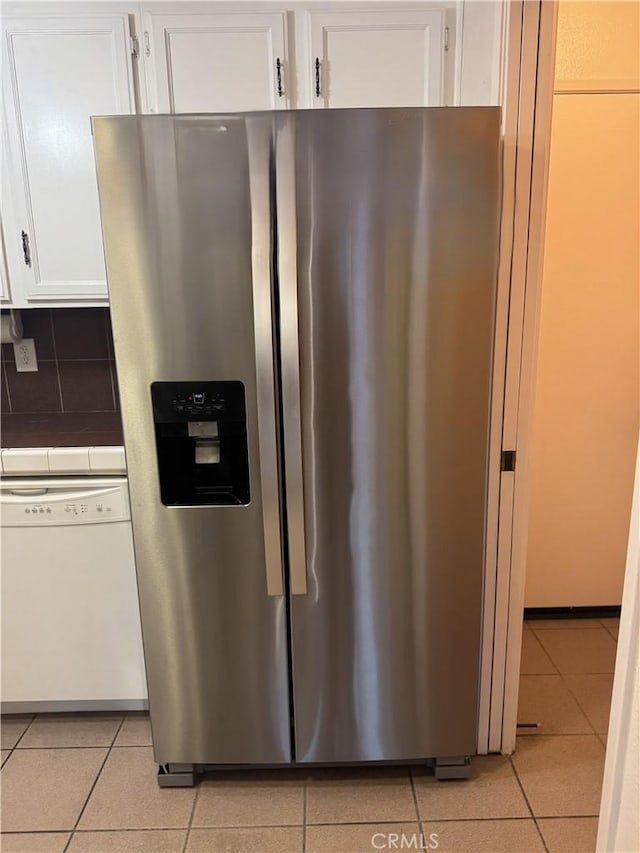
[[[0,304],[107,300],[92,115],[483,103],[498,78],[504,4],[277,3],[3,3]]]

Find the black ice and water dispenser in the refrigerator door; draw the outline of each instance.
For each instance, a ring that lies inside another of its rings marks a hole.
[[[151,401],[162,503],[248,504],[242,382],[153,382]]]

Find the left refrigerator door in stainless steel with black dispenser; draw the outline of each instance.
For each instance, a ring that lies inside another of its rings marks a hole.
[[[272,119],[93,127],[156,760],[287,762]]]

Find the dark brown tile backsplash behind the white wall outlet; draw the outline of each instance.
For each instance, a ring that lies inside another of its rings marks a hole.
[[[22,324],[38,371],[18,373],[12,344],[2,345],[3,413],[119,410],[107,308],[29,308]]]

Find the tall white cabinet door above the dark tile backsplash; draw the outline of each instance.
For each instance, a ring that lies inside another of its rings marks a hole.
[[[106,298],[90,116],[135,112],[127,16],[8,18],[2,33],[14,296]]]

